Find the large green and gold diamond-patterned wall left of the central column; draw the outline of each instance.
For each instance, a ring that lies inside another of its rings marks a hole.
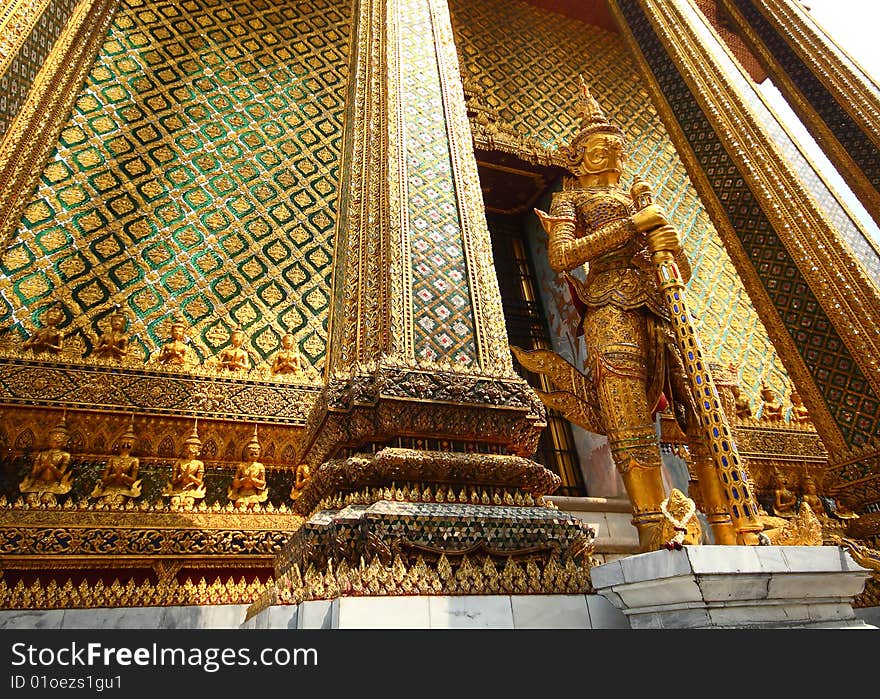
[[[115,304],[147,351],[326,349],[351,3],[124,0],[11,246],[0,324],[53,298],[88,350]]]

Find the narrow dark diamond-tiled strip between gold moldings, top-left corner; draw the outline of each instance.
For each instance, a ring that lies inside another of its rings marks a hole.
[[[9,68],[0,76],[0,139],[27,98],[37,71],[60,36],[79,0],[52,0],[21,45]]]

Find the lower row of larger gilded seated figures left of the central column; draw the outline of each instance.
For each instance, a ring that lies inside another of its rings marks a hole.
[[[64,495],[73,487],[70,453],[64,450],[68,440],[67,425],[61,421],[49,431],[48,446],[37,452],[27,476],[18,489],[27,494],[29,502],[54,504],[56,495]],[[137,437],[134,418],[128,430],[119,439],[119,455],[111,456],[91,497],[106,499],[117,504],[141,495],[141,479],[138,478],[139,460],[132,456]],[[199,459],[202,442],[199,439],[198,421],[183,442],[183,455],[174,463],[171,478],[162,490],[164,497],[171,498],[172,506],[191,507],[205,497],[205,464]],[[238,464],[227,497],[235,507],[252,508],[269,497],[266,483],[266,467],[260,463],[260,441],[257,428],[246,446],[247,457]],[[309,467],[300,464],[290,497],[296,500],[309,479]]]

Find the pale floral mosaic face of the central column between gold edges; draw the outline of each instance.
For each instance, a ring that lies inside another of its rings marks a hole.
[[[470,366],[474,319],[427,0],[409,0],[401,17],[415,352]]]

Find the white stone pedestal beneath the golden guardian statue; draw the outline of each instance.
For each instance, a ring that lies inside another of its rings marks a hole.
[[[686,546],[592,569],[631,628],[876,628],[852,599],[870,572],[831,546]]]

